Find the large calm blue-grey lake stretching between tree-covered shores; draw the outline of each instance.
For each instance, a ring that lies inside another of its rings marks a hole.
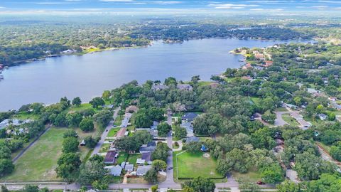
[[[148,48],[108,50],[87,55],[46,58],[3,71],[0,81],[0,111],[18,109],[32,102],[51,104],[60,97],[80,97],[88,102],[131,80],[161,80],[170,76],[190,80],[211,75],[226,68],[239,68],[241,55],[229,54],[238,47],[265,47],[282,41],[202,39],[181,44],[155,41]]]

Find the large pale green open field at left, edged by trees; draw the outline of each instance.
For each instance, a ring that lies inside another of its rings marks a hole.
[[[54,181],[57,178],[55,168],[62,154],[65,128],[51,128],[45,132],[18,161],[15,169],[1,181]]]

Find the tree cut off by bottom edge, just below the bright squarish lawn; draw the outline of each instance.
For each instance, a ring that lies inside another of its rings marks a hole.
[[[183,188],[193,188],[197,192],[213,192],[215,191],[215,183],[210,178],[203,178],[201,176],[194,178],[191,181],[185,181]]]

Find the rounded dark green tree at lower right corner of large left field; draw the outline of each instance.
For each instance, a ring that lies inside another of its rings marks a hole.
[[[80,169],[80,156],[75,153],[67,153],[58,159],[58,167],[55,169],[57,176],[67,179],[67,181],[75,181]]]

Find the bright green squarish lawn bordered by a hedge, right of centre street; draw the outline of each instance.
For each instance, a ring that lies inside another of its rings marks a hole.
[[[174,156],[178,153],[174,153]],[[207,178],[222,178],[220,174],[215,171],[216,161],[212,158],[205,158],[202,152],[190,154],[184,152],[175,157],[175,167],[178,167],[179,178],[195,178],[197,176]],[[178,166],[176,159],[178,159]],[[177,172],[177,170],[174,170]]]

